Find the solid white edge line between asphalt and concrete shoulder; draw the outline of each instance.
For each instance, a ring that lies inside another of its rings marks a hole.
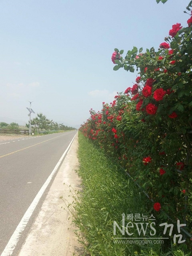
[[[75,136],[76,136],[76,134],[75,134]],[[67,154],[68,149],[70,148],[73,140],[75,139],[75,136],[73,137],[73,139],[71,140],[71,142],[68,145],[67,149],[65,150],[65,152],[61,156],[59,162],[56,164],[56,166],[53,169],[52,173],[49,175],[49,177],[45,181],[44,185],[41,187],[41,189],[37,193],[37,195],[34,198],[33,202],[31,203],[31,205],[29,206],[29,208],[25,212],[23,218],[21,219],[19,225],[17,226],[17,228],[15,229],[14,233],[12,234],[12,237],[10,238],[10,240],[9,240],[8,244],[6,245],[4,251],[2,252],[1,256],[11,256],[12,255],[12,253],[13,253],[13,251],[15,249],[15,246],[17,245],[17,243],[19,241],[21,233],[23,232],[24,228],[26,227],[26,225],[28,223],[28,220],[31,217],[33,211],[35,210],[36,205],[38,204],[39,200],[41,199],[45,189],[47,188],[47,186],[49,185],[50,181],[52,180],[53,175],[55,174],[55,172],[57,171],[60,163],[62,162],[63,158]]]

